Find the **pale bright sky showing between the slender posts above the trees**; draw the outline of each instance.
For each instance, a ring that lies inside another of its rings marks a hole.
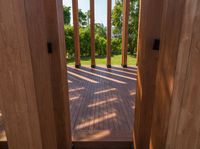
[[[78,0],[78,7],[84,12],[90,8],[90,0]],[[114,6],[115,0],[112,0],[112,7]],[[72,6],[72,0],[63,0],[65,6]],[[72,12],[72,11],[71,11]],[[71,23],[73,19],[71,17]],[[95,23],[107,24],[107,0],[95,0]]]

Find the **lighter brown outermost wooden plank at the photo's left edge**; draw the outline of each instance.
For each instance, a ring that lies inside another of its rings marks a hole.
[[[0,5],[0,109],[10,149],[43,148],[26,7],[23,0]]]

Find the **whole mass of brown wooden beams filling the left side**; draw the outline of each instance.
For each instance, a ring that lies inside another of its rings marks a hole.
[[[55,3],[51,5],[56,7]],[[14,9],[8,11],[10,6]],[[46,15],[51,11],[45,15],[44,8],[43,0],[7,0],[0,5],[0,109],[5,119],[9,149],[71,148],[67,142],[70,136],[66,136],[70,122],[63,122],[62,111],[65,108],[60,105],[66,104],[65,95],[61,95],[66,91],[63,88],[66,83],[63,81],[66,75],[64,59],[55,58],[60,56],[58,53],[64,54],[61,48],[63,39],[58,39],[58,32],[61,34],[62,29],[55,27],[56,37],[50,36],[58,18],[53,17],[53,25],[47,28]],[[58,21],[57,24],[63,27],[63,23]],[[52,39],[52,52],[47,48],[49,39]],[[50,66],[51,62],[53,66]],[[54,67],[58,68],[52,74]],[[58,89],[54,91],[56,87]],[[54,100],[56,95],[58,101]],[[62,113],[62,118],[56,117],[60,116],[59,113]],[[61,145],[60,139],[66,143]]]

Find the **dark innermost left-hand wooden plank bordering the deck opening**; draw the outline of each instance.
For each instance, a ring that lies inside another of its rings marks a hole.
[[[49,54],[52,94],[57,133],[57,148],[71,148],[71,128],[62,0],[43,0],[46,14],[47,41],[52,43]]]

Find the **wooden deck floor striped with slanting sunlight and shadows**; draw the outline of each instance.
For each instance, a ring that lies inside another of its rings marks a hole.
[[[136,67],[68,67],[73,141],[132,141]]]

